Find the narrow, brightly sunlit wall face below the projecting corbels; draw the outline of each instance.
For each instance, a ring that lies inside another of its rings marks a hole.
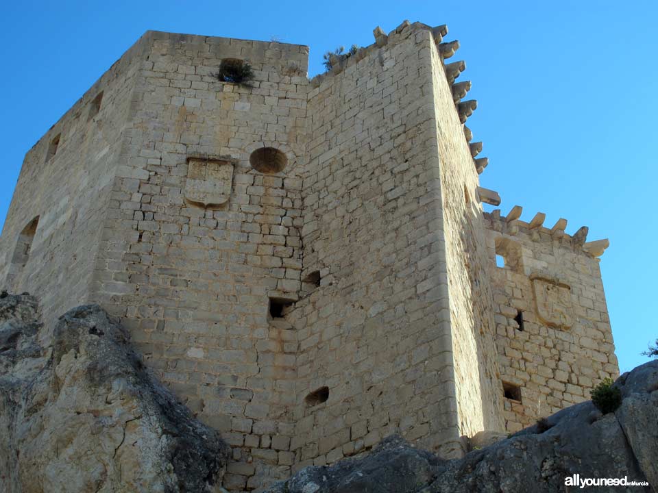
[[[434,44],[430,55],[443,224],[443,242],[438,247],[445,259],[445,266],[437,268],[445,276],[441,288],[449,301],[459,431],[463,438],[470,438],[478,431],[502,431],[504,426],[498,366],[491,351],[496,329],[489,252],[476,192],[476,166]],[[467,450],[467,440],[462,444]]]

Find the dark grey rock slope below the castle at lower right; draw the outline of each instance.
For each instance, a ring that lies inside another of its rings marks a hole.
[[[308,467],[269,493],[553,493],[574,474],[624,478],[658,487],[658,361],[622,375],[622,405],[603,416],[591,401],[467,454],[443,461],[399,437],[368,455]],[[596,492],[651,492],[651,486],[595,486]]]

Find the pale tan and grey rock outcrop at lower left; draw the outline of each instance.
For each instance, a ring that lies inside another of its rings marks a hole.
[[[0,296],[0,491],[220,491],[230,448],[149,375],[121,325],[77,307],[42,346],[37,310]]]

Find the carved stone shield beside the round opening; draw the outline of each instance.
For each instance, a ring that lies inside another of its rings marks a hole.
[[[222,205],[231,196],[233,163],[206,157],[188,157],[185,198],[208,205]]]

